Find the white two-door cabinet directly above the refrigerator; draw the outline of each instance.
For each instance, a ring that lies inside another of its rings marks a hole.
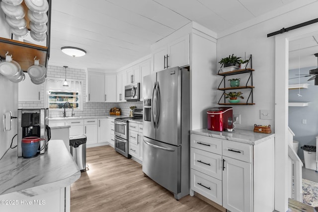
[[[189,64],[189,35],[154,50],[152,54],[152,69],[155,72]]]

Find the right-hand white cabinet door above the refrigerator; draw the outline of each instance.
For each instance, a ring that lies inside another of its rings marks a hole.
[[[168,56],[168,68],[189,65],[189,35],[168,44]]]

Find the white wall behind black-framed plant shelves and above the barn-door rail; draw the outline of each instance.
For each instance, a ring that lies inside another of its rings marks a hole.
[[[275,36],[267,34],[283,27],[293,26],[317,18],[318,2],[293,10],[270,20],[227,35],[217,41],[217,62],[235,54],[240,57],[252,54],[253,69],[253,106],[233,106],[234,114],[241,115],[239,129],[253,129],[254,124],[271,125],[274,129],[275,95]],[[300,15],[301,14],[301,15]],[[287,32],[288,33],[288,32]],[[219,64],[217,66],[219,68]],[[279,70],[277,70],[279,71]],[[221,77],[217,82],[221,81]],[[241,90],[242,92],[247,89]],[[218,92],[218,98],[222,92]],[[244,95],[243,95],[244,96]],[[245,97],[245,96],[244,96]],[[261,120],[260,109],[273,112],[272,120]]]

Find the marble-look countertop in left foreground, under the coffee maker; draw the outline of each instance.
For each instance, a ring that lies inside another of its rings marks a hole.
[[[32,197],[67,187],[80,177],[62,140],[49,141],[48,150],[33,158],[16,155],[16,148],[9,149],[0,160],[0,195],[17,192]]]

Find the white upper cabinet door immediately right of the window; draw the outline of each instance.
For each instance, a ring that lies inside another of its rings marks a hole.
[[[105,102],[105,77],[101,74],[88,73],[88,102]]]

